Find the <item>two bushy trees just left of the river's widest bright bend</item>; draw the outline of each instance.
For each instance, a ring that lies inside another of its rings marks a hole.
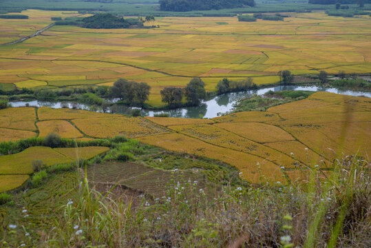
[[[176,107],[182,104],[183,97],[191,106],[199,105],[206,97],[205,83],[200,78],[189,81],[184,89],[180,87],[165,87],[160,92],[163,103]]]

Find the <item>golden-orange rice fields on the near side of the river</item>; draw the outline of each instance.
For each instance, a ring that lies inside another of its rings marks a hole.
[[[5,134],[0,141],[8,141],[13,132],[27,132],[30,136],[56,132],[65,138],[84,139],[121,135],[229,163],[242,172],[242,178],[253,183],[262,177],[282,182],[283,175],[296,180],[306,166],[329,169],[330,163],[343,154],[368,156],[370,123],[371,99],[317,92],[308,99],[277,105],[266,112],[239,112],[213,119],[127,117],[49,107],[9,108],[0,110],[1,133]],[[12,139],[19,138],[22,137]],[[68,149],[50,152],[66,158],[76,156]],[[8,165],[1,164],[0,161],[0,169],[6,172],[3,174],[12,172]],[[28,173],[25,166],[21,174]]]

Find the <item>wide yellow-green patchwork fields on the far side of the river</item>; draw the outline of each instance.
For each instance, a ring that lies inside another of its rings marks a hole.
[[[28,35],[73,12],[28,10],[28,20],[1,19],[1,42]],[[125,78],[163,87],[199,76],[206,90],[224,77],[277,83],[294,74],[371,72],[370,18],[288,13],[284,21],[239,22],[237,17],[158,17],[160,28],[94,30],[54,26],[17,45],[0,46],[0,83],[29,88],[112,85]],[[37,23],[37,25],[35,24]]]

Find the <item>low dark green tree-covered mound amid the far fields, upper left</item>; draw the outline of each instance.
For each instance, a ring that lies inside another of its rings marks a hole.
[[[77,25],[81,28],[130,28],[131,26],[143,26],[139,19],[123,19],[113,14],[95,14],[92,17],[70,18],[63,21],[56,21],[56,25]]]

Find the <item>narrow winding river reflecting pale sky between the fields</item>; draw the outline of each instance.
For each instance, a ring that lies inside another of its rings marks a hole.
[[[180,107],[174,110],[165,111],[153,111],[153,110],[142,110],[142,116],[153,116],[154,114],[167,113],[170,117],[181,117],[181,118],[213,118],[220,114],[225,114],[233,110],[233,105],[247,96],[253,94],[262,95],[268,91],[279,92],[282,90],[309,90],[313,92],[332,92],[337,94],[346,94],[350,96],[367,96],[371,98],[370,92],[357,92],[352,90],[339,90],[336,88],[325,88],[317,86],[295,86],[295,85],[281,85],[276,87],[265,87],[259,90],[248,90],[246,92],[234,92],[215,96],[209,101],[204,101],[200,106],[197,107]],[[13,107],[24,107],[26,105],[36,107],[76,107],[81,110],[92,110],[92,106],[80,104],[80,103],[61,103],[61,102],[47,102],[47,101],[12,101],[10,102]],[[101,112],[101,110],[93,110]],[[116,113],[127,114],[130,111],[129,107],[123,105],[116,105]]]

